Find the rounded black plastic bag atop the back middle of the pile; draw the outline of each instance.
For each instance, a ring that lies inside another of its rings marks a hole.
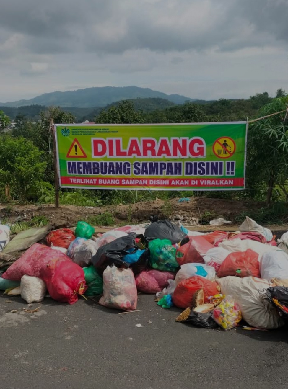
[[[176,244],[181,242],[186,237],[186,234],[169,220],[159,220],[146,228],[144,236],[148,240],[169,239],[172,244]]]

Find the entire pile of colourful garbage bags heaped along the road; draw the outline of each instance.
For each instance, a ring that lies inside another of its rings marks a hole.
[[[100,296],[99,304],[130,311],[148,293],[163,308],[181,308],[177,322],[202,328],[276,329],[288,317],[288,233],[276,242],[249,217],[236,232],[156,220],[97,237],[84,221],[31,234],[9,242],[9,226],[0,224],[0,289],[28,303]],[[26,251],[15,259],[19,245]]]

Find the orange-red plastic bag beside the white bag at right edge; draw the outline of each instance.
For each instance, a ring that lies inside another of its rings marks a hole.
[[[236,277],[261,278],[259,254],[251,249],[241,252],[232,252],[224,259],[218,270],[218,277],[234,275]]]

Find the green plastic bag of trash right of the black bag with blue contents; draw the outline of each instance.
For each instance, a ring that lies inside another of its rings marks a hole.
[[[163,272],[175,272],[179,267],[176,249],[168,239],[154,239],[149,242],[150,266]]]

